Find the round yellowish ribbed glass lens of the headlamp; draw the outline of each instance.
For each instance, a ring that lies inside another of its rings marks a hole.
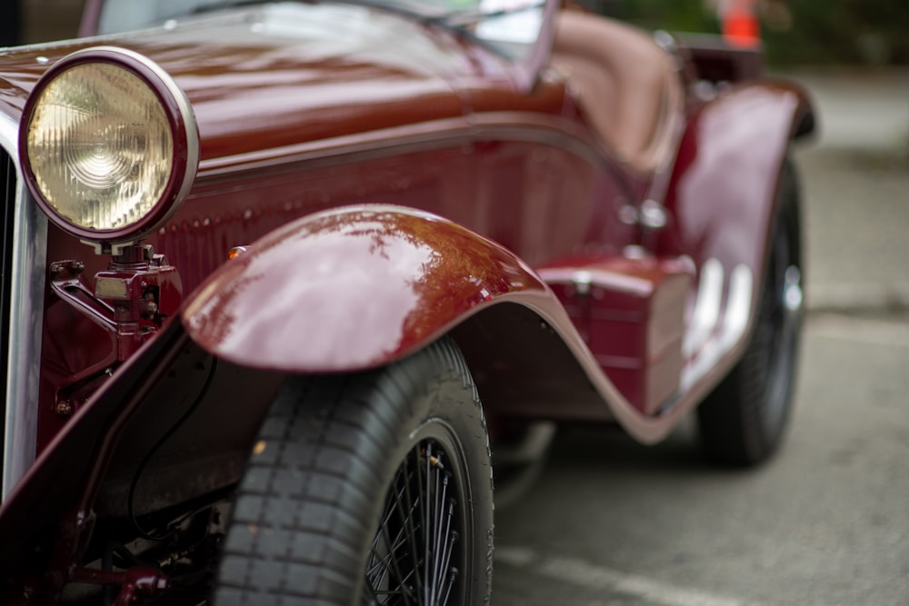
[[[123,67],[74,65],[41,92],[27,154],[45,202],[96,231],[128,228],[165,191],[174,137],[165,108]]]

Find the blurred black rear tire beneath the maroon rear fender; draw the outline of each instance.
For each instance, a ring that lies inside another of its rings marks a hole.
[[[798,178],[787,161],[777,193],[761,303],[742,359],[698,408],[701,441],[715,462],[763,462],[782,442],[792,409],[802,327]]]

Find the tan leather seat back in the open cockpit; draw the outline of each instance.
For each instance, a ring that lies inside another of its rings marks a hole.
[[[642,172],[674,146],[684,112],[673,58],[630,25],[574,10],[557,15],[553,65],[569,80],[594,130]]]

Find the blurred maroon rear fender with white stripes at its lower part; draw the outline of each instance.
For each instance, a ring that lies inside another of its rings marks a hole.
[[[689,122],[656,251],[690,258],[699,270],[683,381],[694,397],[709,391],[744,351],[762,295],[784,163],[794,139],[813,131],[814,110],[804,91],[782,82],[734,87]]]

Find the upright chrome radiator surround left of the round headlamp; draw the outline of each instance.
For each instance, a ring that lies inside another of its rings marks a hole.
[[[47,219],[31,204],[19,171],[19,125],[0,115],[0,145],[13,159],[18,174],[13,228],[9,356],[5,393],[3,483],[5,499],[35,461],[38,428],[38,378],[44,314]]]

